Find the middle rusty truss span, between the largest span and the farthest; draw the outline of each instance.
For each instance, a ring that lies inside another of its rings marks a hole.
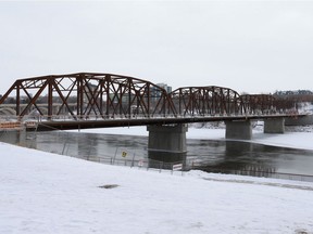
[[[246,112],[240,95],[223,87],[185,87],[171,93],[179,115],[241,115]]]

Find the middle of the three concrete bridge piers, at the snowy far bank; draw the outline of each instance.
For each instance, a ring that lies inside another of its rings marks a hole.
[[[225,121],[226,139],[251,140],[252,125],[250,120]]]

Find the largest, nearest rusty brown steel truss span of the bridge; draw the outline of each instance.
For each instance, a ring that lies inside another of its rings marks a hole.
[[[73,119],[97,117],[154,117],[175,115],[166,91],[134,77],[79,73],[18,79],[1,98],[15,96],[16,116],[67,115]],[[55,108],[58,106],[58,108]]]

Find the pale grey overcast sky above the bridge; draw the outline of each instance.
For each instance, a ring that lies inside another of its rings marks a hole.
[[[0,1],[0,93],[25,77],[313,90],[313,1]]]

